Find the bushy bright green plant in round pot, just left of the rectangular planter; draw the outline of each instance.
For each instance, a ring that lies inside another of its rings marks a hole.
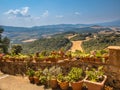
[[[69,81],[73,90],[81,90],[83,84],[83,71],[81,68],[73,67],[68,73]]]

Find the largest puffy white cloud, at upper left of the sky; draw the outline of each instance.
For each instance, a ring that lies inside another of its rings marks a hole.
[[[30,17],[28,14],[29,7],[23,7],[21,9],[10,9],[7,12],[5,12],[6,15],[12,15],[15,17]]]

